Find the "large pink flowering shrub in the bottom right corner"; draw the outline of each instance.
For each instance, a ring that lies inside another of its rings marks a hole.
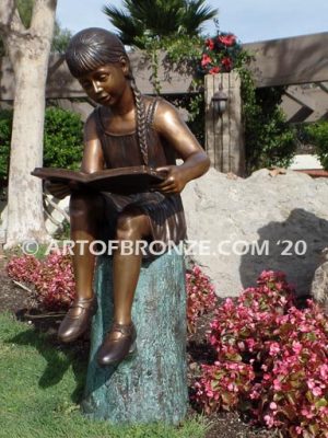
[[[209,342],[218,360],[195,383],[204,412],[239,408],[288,437],[328,437],[328,320],[312,301],[294,307],[282,273],[225,300]]]

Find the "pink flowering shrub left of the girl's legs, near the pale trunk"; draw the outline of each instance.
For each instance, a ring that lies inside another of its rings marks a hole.
[[[35,287],[42,307],[49,311],[66,310],[75,293],[72,262],[69,254],[51,253],[44,261],[33,255],[15,256],[7,265],[8,275]]]

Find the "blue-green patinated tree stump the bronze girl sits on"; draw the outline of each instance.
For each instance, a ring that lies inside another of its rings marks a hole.
[[[184,258],[176,252],[143,262],[133,307],[137,351],[118,366],[97,366],[96,353],[113,320],[112,260],[98,258],[98,310],[82,410],[113,424],[178,424],[188,405]]]

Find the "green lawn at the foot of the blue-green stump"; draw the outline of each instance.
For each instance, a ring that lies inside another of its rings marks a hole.
[[[0,313],[0,438],[202,438],[199,418],[181,426],[110,426],[79,408],[87,358],[56,349],[47,336]]]

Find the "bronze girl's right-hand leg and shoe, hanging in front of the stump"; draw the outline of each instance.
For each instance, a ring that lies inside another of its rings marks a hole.
[[[138,254],[137,242],[150,235],[151,226],[147,215],[139,210],[121,214],[117,221],[117,240],[132,244],[132,254],[120,247],[113,256],[114,324],[98,351],[99,365],[117,364],[132,349],[136,331],[131,321],[131,308],[137,288],[142,253]]]

